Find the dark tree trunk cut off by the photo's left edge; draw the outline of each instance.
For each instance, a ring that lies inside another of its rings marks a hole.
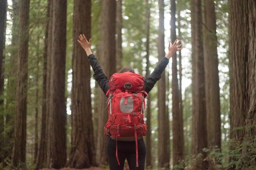
[[[5,40],[6,40],[6,5],[7,0],[0,1],[0,145],[4,144],[4,107],[3,107],[3,87],[4,87],[4,60],[5,60]],[[0,162],[4,160],[4,149],[0,149]]]

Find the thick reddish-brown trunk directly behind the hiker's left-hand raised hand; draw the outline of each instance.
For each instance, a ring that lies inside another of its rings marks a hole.
[[[91,2],[74,1],[72,59],[72,136],[69,166],[88,168],[96,165],[90,91],[90,64],[77,42],[80,34],[90,39]]]

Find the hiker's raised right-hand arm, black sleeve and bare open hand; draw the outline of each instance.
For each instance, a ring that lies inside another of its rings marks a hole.
[[[161,59],[160,62],[158,62],[156,68],[154,68],[154,71],[150,74],[149,77],[145,79],[145,91],[148,93],[151,91],[151,89],[154,87],[156,82],[161,78],[161,74],[166,68],[166,65],[169,63],[169,59],[172,57],[173,54],[176,53],[176,51],[181,50],[180,48],[182,44],[180,44],[180,40],[175,40],[175,42],[172,44],[169,42],[169,47],[168,47],[168,53],[166,54],[163,59]]]

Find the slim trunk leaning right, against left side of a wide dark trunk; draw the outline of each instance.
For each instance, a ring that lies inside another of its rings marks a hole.
[[[42,84],[42,115],[41,115],[41,137],[38,147],[38,154],[35,161],[35,170],[41,169],[43,165],[46,165],[46,158],[47,158],[47,116],[46,116],[46,109],[47,109],[47,57],[48,57],[48,41],[49,41],[49,12],[50,12],[50,3],[51,1],[48,0],[47,3],[47,23],[45,29],[45,39],[44,39],[44,65],[43,65],[43,84]]]

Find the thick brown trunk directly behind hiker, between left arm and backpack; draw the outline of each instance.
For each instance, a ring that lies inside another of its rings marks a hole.
[[[116,72],[116,1],[104,0],[102,1],[102,37],[100,44],[100,64],[105,75],[110,78]],[[107,98],[105,94],[100,92],[99,105],[105,106]],[[96,151],[96,162],[99,165],[107,164],[106,145],[107,136],[104,136],[103,125],[108,120],[108,108],[99,108],[99,129],[98,129],[98,143]],[[102,154],[104,153],[104,154]]]

